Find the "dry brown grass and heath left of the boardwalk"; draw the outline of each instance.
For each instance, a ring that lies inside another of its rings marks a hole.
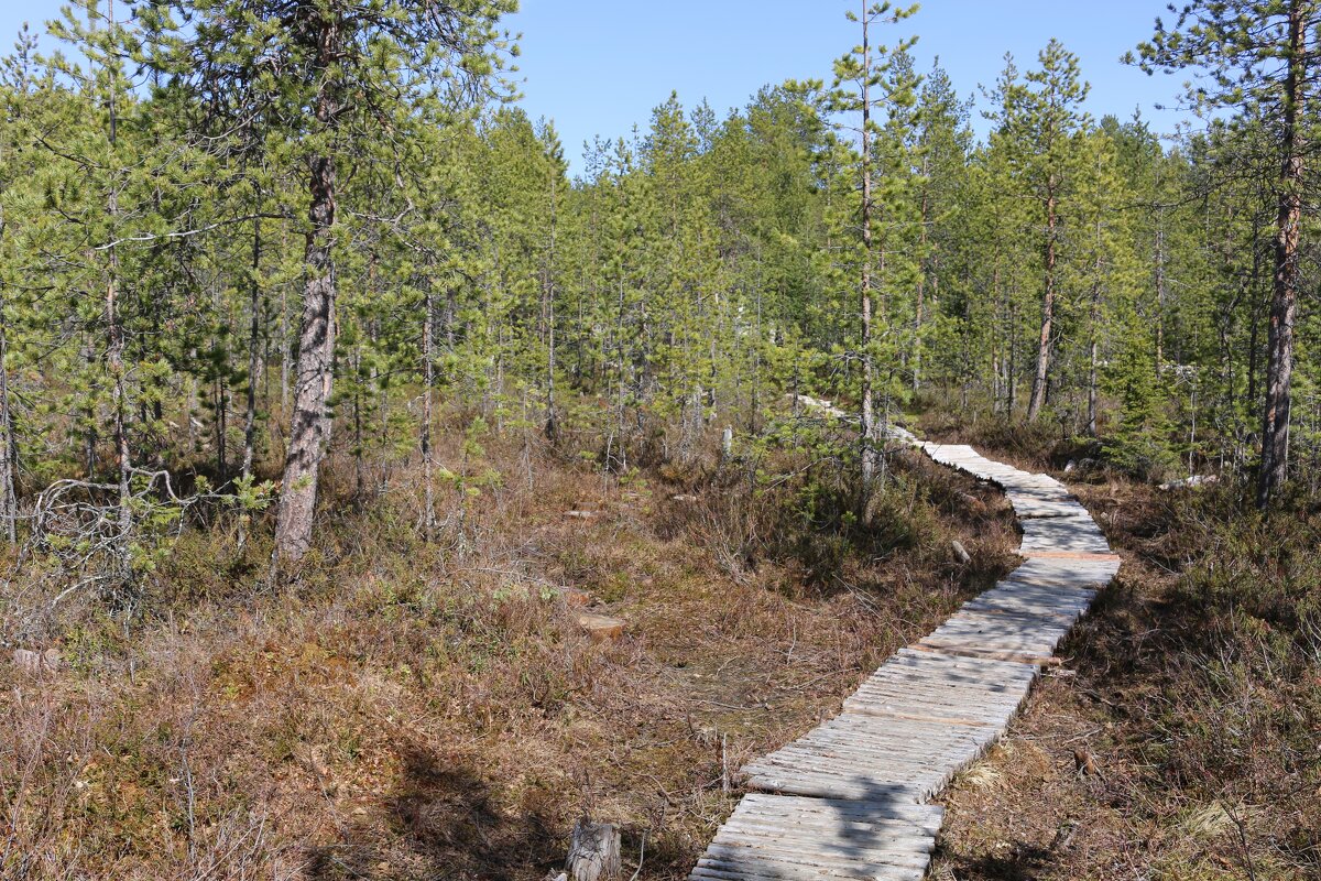
[[[606,483],[487,448],[468,473],[501,479],[446,495],[436,546],[412,472],[355,506],[341,461],[296,582],[264,585],[268,547],[221,522],[132,605],[61,606],[34,647],[62,668],[0,692],[0,877],[539,878],[584,812],[624,826],[626,860],[646,837],[641,877],[680,877],[744,761],[838,709],[1015,544],[992,493],[915,458],[880,518],[904,530],[861,542],[717,470]],[[584,635],[565,586],[625,638]],[[33,608],[18,593],[7,621]]]

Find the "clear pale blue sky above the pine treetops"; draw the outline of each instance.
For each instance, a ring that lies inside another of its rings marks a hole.
[[[119,0],[122,4],[123,0]],[[0,45],[24,21],[33,30],[58,16],[58,0],[0,0]],[[555,122],[565,157],[583,168],[593,136],[645,129],[651,108],[679,92],[686,107],[707,99],[721,116],[741,108],[768,83],[830,79],[831,62],[857,42],[843,0],[522,0],[509,18],[520,32],[515,75],[534,119]],[[1169,133],[1189,120],[1177,110],[1180,77],[1148,77],[1120,63],[1124,52],[1151,38],[1166,0],[925,0],[906,21],[881,28],[877,41],[918,36],[919,70],[939,63],[963,96],[991,86],[1013,53],[1020,70],[1036,65],[1052,37],[1078,55],[1091,83],[1094,116],[1129,119],[1140,111],[1152,129]],[[45,49],[49,40],[42,40]],[[1165,108],[1161,110],[1160,106]],[[1194,120],[1196,122],[1196,120]],[[974,128],[987,123],[974,112]]]

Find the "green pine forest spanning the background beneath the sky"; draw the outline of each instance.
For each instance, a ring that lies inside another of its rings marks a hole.
[[[724,118],[671,95],[571,178],[553,125],[509,102],[514,7],[103,1],[53,25],[67,54],[20,38],[0,82],[12,546],[119,589],[225,516],[295,565],[328,454],[339,501],[390,497],[435,540],[535,479],[482,465],[491,433],[624,476],[707,462],[728,429],[753,483],[782,477],[777,450],[860,474],[865,522],[911,407],[1050,427],[1143,478],[1214,472],[1262,507],[1316,491],[1314,114],[1283,74],[1225,74],[1255,70],[1231,22],[1139,50],[1225,59],[1199,96],[1225,112],[1169,147],[1090,118],[1058,41],[1007,55],[978,140],[972,102],[908,52],[921,17],[884,4],[835,82]],[[1268,36],[1299,30],[1289,57],[1313,63],[1321,16],[1281,9]],[[440,432],[466,439],[457,461]]]

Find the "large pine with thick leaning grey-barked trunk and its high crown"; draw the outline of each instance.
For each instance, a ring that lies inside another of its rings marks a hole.
[[[300,139],[309,169],[306,283],[276,524],[276,556],[296,563],[312,540],[317,481],[332,429],[339,165],[345,153],[361,152],[374,135],[406,125],[424,99],[461,103],[485,95],[505,49],[495,21],[515,4],[176,0],[172,5],[188,24],[169,62],[177,75],[225,119],[242,122],[252,108],[263,114],[272,108],[269,115]],[[255,25],[236,29],[234,21]]]

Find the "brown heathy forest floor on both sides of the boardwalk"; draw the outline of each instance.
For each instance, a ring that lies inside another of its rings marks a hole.
[[[1061,465],[1040,437],[959,435]],[[894,458],[886,534],[863,544],[711,466],[605,486],[489,446],[468,470],[506,477],[465,506],[465,548],[420,546],[407,506],[358,509],[332,481],[343,502],[288,589],[262,586],[268,548],[213,528],[128,625],[123,602],[66,610],[59,668],[0,692],[0,878],[534,881],[581,815],[622,826],[627,874],[641,857],[639,878],[680,878],[740,765],[1016,564],[1003,497],[917,454]],[[1106,474],[1075,489],[1124,569],[947,794],[931,877],[1317,877],[1313,618],[1201,602],[1181,560],[1236,547],[1202,509]],[[1280,547],[1314,546],[1317,518],[1300,523]],[[1295,563],[1276,569],[1317,572]],[[587,635],[564,588],[622,638]],[[0,605],[5,631],[20,613]]]

